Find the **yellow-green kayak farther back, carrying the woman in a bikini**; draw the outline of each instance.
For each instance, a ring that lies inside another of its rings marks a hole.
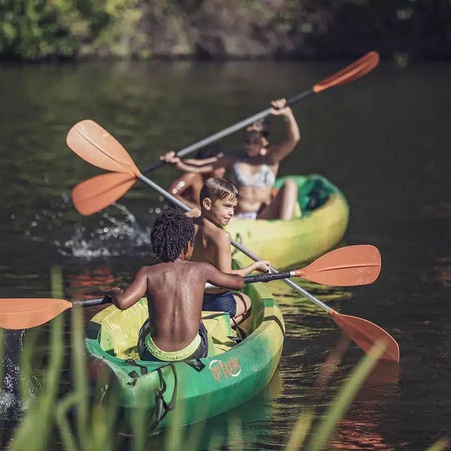
[[[277,179],[298,184],[298,206],[293,219],[237,219],[228,226],[232,238],[276,268],[287,268],[323,255],[336,246],[346,231],[349,206],[343,193],[321,175],[293,175]],[[242,265],[252,261],[233,249]]]

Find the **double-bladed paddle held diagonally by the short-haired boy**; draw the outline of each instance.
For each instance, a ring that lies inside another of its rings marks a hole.
[[[96,124],[94,121],[84,120],[74,125],[68,133],[67,143],[77,155],[91,164],[103,169],[122,172],[124,177],[123,180],[128,180],[128,182],[139,178],[174,205],[177,205],[185,211],[189,210],[189,207],[183,202],[180,202],[155,182],[141,174],[124,147],[122,147],[118,141],[116,141],[105,129],[100,127],[100,125]],[[99,176],[98,179],[100,179],[100,177],[101,176]],[[80,201],[89,209],[90,203],[97,203],[99,196],[90,198],[87,189],[88,186],[89,188],[96,189],[96,186],[95,184],[89,184],[80,188],[81,185],[82,184],[78,185],[74,189],[72,192],[72,198],[74,203]],[[99,193],[99,191],[102,190],[104,190],[104,187],[97,186],[95,192]],[[232,245],[252,260],[261,260],[257,255],[249,251],[237,241],[232,240]],[[270,271],[273,273],[278,272],[273,267],[270,267]],[[380,358],[395,362],[399,361],[398,344],[393,337],[391,337],[379,326],[376,326],[375,324],[362,318],[342,315],[291,280],[283,280],[299,294],[326,311],[335,323],[351,338],[351,340],[353,340],[354,343],[360,346],[360,348],[362,348],[365,352],[368,352],[373,345],[377,345],[379,347],[383,347],[383,352]]]

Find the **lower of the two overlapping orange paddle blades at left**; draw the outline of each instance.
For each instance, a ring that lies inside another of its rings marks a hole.
[[[122,197],[135,183],[134,175],[109,172],[79,183],[72,190],[72,201],[85,216],[106,208]]]

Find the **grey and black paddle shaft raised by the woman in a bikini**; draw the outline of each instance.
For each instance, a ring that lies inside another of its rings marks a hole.
[[[309,89],[307,91],[301,92],[297,96],[292,97],[287,101],[287,106],[293,105],[296,102],[299,102],[300,100],[303,100],[307,97],[310,97],[312,94],[315,94],[315,92],[312,89]],[[268,116],[271,113],[271,110],[273,108],[267,108],[266,110],[261,111],[260,113],[254,114],[254,116],[250,116],[247,119],[243,119],[240,122],[237,122],[234,125],[231,125],[228,128],[224,128],[223,130],[215,133],[214,135],[208,136],[208,138],[201,139],[200,141],[195,142],[194,144],[191,144],[187,147],[184,147],[183,149],[179,150],[176,155],[178,157],[183,157],[187,155],[188,153],[194,152],[194,150],[200,149],[202,147],[207,146],[208,144],[211,144],[212,142],[218,141],[221,138],[224,138],[225,136],[229,136],[232,133],[235,133],[238,130],[241,130],[242,128],[253,124],[254,122],[258,121],[259,119],[263,119],[264,117]],[[159,167],[164,166],[166,163],[165,161],[157,161],[156,163],[151,164],[150,166],[144,168],[142,170],[143,174],[147,174],[148,172],[151,172],[155,169],[158,169]]]

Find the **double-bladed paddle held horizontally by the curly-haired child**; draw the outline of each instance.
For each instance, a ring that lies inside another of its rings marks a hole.
[[[380,254],[374,246],[349,246],[331,251],[306,268],[280,273],[264,273],[244,277],[245,284],[271,282],[287,277],[302,277],[325,285],[364,285],[377,279]],[[206,284],[205,288],[213,287]],[[0,299],[0,327],[29,329],[52,320],[72,307],[92,307],[108,304],[108,297],[69,302],[64,299],[25,298]]]

